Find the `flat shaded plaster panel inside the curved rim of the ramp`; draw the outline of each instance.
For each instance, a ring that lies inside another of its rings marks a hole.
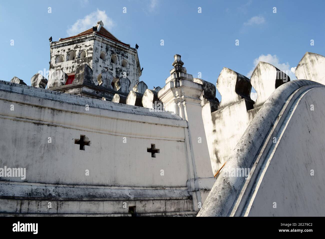
[[[324,89],[309,90],[292,106],[255,182],[245,216],[325,216]]]

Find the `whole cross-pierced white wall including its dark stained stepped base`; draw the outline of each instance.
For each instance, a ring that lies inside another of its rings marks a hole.
[[[123,216],[126,201],[142,215],[195,216],[203,203],[178,115],[4,81],[0,100],[0,167],[26,168],[23,180],[0,178],[1,215]]]

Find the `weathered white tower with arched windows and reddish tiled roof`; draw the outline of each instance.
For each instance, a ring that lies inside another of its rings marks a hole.
[[[96,26],[77,35],[59,38],[56,42],[52,42],[52,37],[49,40],[50,68],[47,86],[49,89],[93,97],[85,94],[84,88],[88,88],[88,93],[91,91],[92,94],[98,94],[96,92],[101,90],[89,84],[100,85],[98,75],[103,72],[106,72],[106,77],[110,78],[111,87],[104,84],[109,90],[118,90],[115,82],[120,77],[124,79],[127,77],[130,80],[130,89],[139,82],[142,70],[137,55],[138,46],[133,48],[130,44],[121,42],[104,28],[102,21],[98,21]],[[92,70],[86,70],[87,74],[92,74],[92,81],[83,82],[78,79],[78,82],[74,82],[77,68],[84,64]],[[54,72],[57,72],[56,77],[55,74],[53,75]],[[67,74],[67,77],[63,77],[64,74]]]

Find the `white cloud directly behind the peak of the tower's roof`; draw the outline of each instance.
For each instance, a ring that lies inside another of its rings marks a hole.
[[[105,11],[100,11],[97,9],[97,11],[90,13],[83,19],[78,19],[75,23],[73,23],[72,26],[69,26],[67,34],[69,36],[73,36],[81,33],[93,26],[96,26],[97,22],[100,20],[104,23],[104,27],[106,29],[111,30],[111,28],[115,25],[113,20],[106,15]]]

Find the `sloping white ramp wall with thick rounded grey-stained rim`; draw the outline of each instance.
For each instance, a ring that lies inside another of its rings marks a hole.
[[[317,82],[279,86],[241,137],[198,216],[325,216],[324,102],[325,86]]]

